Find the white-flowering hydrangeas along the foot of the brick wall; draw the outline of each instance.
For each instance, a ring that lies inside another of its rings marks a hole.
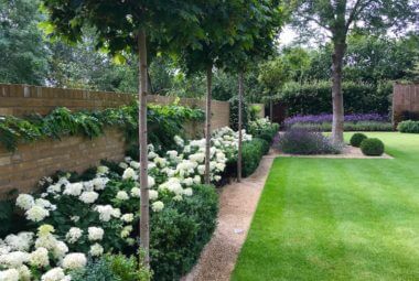
[[[251,136],[244,132],[244,141]],[[174,138],[176,150],[159,154],[149,145],[149,195],[152,215],[194,196],[205,172],[205,139]],[[211,180],[221,181],[236,158],[238,133],[222,128],[213,133]],[[72,270],[107,252],[135,252],[139,223],[141,164],[126,158],[109,169],[98,166],[87,179],[71,174],[42,180],[43,193],[20,194],[17,206],[34,231],[0,240],[0,280],[69,280]],[[215,219],[215,216],[214,216]]]

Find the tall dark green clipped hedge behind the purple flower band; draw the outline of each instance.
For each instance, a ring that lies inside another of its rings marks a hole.
[[[342,86],[346,114],[389,112],[391,83],[344,82]],[[277,95],[277,101],[287,106],[288,116],[331,114],[332,85],[326,80],[288,83]]]

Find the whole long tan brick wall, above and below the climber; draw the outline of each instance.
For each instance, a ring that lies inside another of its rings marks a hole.
[[[26,85],[0,84],[0,116],[46,115],[56,107],[71,110],[115,108],[132,102],[132,94],[60,89]],[[150,95],[148,100],[168,105],[173,97]],[[204,99],[180,99],[180,105],[205,109]],[[229,105],[213,101],[213,129],[228,126]],[[192,122],[185,125],[191,137],[203,134],[204,126]],[[20,144],[14,153],[0,145],[0,196],[11,188],[31,191],[36,182],[57,170],[82,172],[97,165],[101,159],[119,161],[125,154],[121,132],[107,130],[104,137],[93,140],[83,137],[65,138],[62,141],[45,140],[31,144]]]

